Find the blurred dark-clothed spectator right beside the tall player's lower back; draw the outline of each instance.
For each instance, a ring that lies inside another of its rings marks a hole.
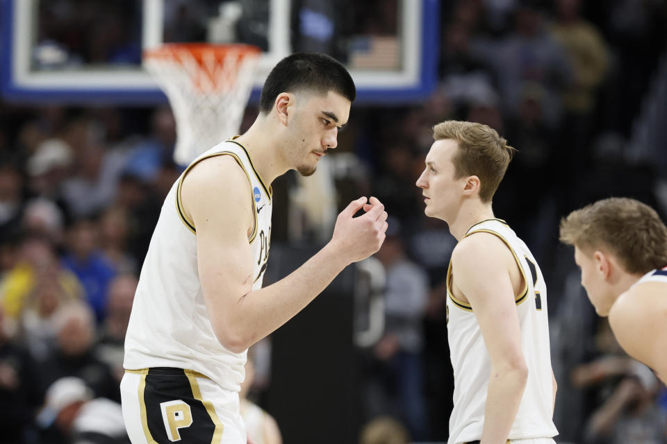
[[[125,332],[130,321],[137,284],[137,277],[130,273],[117,275],[110,282],[104,323],[97,339],[97,357],[111,368],[118,384],[125,373]]]

